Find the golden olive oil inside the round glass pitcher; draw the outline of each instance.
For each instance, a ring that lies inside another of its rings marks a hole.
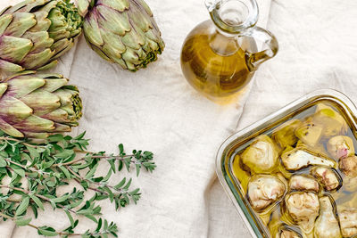
[[[253,77],[249,53],[237,37],[223,35],[204,21],[187,36],[181,52],[181,67],[187,81],[213,100],[237,93]]]

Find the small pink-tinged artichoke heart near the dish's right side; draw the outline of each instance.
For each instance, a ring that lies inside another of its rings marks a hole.
[[[353,156],[353,140],[349,136],[336,135],[328,140],[328,153],[336,160]]]

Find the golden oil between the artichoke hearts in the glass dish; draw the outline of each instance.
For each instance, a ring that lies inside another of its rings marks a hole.
[[[336,104],[330,103],[328,101],[322,101],[320,103],[324,103],[328,105],[330,108],[332,108],[335,111],[338,111],[339,114],[344,117],[344,113],[341,113],[343,111],[340,109]],[[313,115],[316,111],[317,106],[319,103],[312,105],[310,108],[301,111],[295,117],[289,118],[288,120],[294,120],[294,119],[309,119],[311,115]],[[345,119],[345,117],[344,117]],[[282,121],[284,123],[285,121]],[[347,125],[349,125],[347,131],[345,132],[344,135],[347,135],[353,139],[353,144],[354,148],[357,148],[357,135],[355,133],[355,129],[351,127],[353,123],[349,121],[348,119],[345,119],[345,122]],[[270,130],[264,132],[266,135],[271,135],[272,131],[280,126],[281,124],[276,125],[273,128],[270,128]],[[242,200],[246,200],[246,191],[247,191],[247,186],[249,183],[249,180],[251,179],[252,176],[254,176],[253,172],[247,171],[242,163],[242,160],[240,158],[240,155],[242,152],[245,151],[245,148],[249,146],[250,142],[247,142],[246,144],[243,144],[242,146],[239,146],[235,152],[231,154],[231,160],[233,160],[232,166],[233,166],[233,173],[236,176],[237,181],[239,182],[240,189],[242,189],[241,193],[243,195]],[[316,144],[315,146],[311,147],[311,150],[314,152],[320,152],[321,154],[326,154],[328,155],[328,152],[326,150],[327,148],[327,143],[328,139],[321,139],[320,143]],[[336,160],[336,159],[334,159]],[[338,163],[338,160],[336,160],[336,163]],[[308,168],[302,168],[300,170],[297,170],[295,172],[292,171],[287,171],[285,170],[284,166],[281,164],[281,162],[278,165],[278,170],[279,172],[272,172],[271,174],[278,175],[281,174],[286,178],[286,181],[292,176],[293,174],[310,174],[310,169],[311,167]],[[320,188],[320,193],[318,194],[319,197],[323,195],[329,195],[333,198],[333,206],[335,209],[341,209],[341,208],[354,208],[357,209],[357,177],[355,178],[348,178],[345,176],[345,174],[340,170],[336,169],[337,173],[341,178],[343,179],[342,186],[337,190],[332,193],[324,191],[322,188]],[[246,201],[247,204],[249,204],[249,201]],[[291,217],[287,216],[286,213],[286,207],[284,205],[284,202],[279,201],[277,202],[276,206],[273,207],[273,209],[267,210],[267,212],[264,212],[262,214],[255,213],[256,217],[260,217],[262,220],[262,224],[267,226],[268,229],[270,230],[270,234],[277,234],[278,232],[278,227],[285,226],[287,229],[294,230],[297,233],[302,233],[300,228],[295,225],[294,221],[291,220]],[[267,218],[268,217],[268,218]],[[275,237],[273,235],[273,237]]]

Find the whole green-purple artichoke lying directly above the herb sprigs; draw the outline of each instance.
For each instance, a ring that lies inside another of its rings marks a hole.
[[[0,129],[15,137],[46,138],[78,126],[82,103],[76,86],[58,74],[25,71],[0,83]]]

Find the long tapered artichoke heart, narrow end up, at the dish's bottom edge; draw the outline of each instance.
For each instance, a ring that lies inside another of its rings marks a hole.
[[[314,234],[315,237],[319,238],[342,237],[340,226],[328,196],[320,198],[320,216],[315,222]]]

